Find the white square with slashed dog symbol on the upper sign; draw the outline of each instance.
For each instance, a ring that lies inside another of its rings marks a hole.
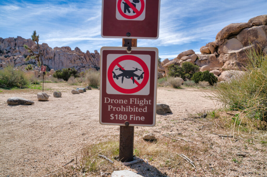
[[[116,18],[118,20],[144,20],[146,0],[116,0]]]

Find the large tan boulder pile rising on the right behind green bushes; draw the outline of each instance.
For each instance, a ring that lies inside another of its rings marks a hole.
[[[226,78],[223,72],[245,69],[248,62],[246,52],[251,48],[267,55],[267,15],[254,17],[247,23],[227,25],[218,32],[215,41],[200,48],[201,54],[193,50],[184,51],[171,61],[162,61],[158,71],[166,77],[168,66],[181,66],[188,61],[200,66],[200,71],[208,70],[222,81]]]

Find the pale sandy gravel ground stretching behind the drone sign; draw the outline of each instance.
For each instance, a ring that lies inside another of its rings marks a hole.
[[[70,91],[76,87],[66,83],[46,83],[45,92],[50,95],[46,102],[37,101],[36,94],[41,92],[37,89],[3,90],[0,93],[1,177],[50,176],[58,166],[62,167],[74,158],[85,145],[119,135],[119,126],[99,124],[99,90],[71,94]],[[53,97],[54,91],[61,91],[62,97]],[[157,115],[157,121],[168,118],[183,120],[189,114],[215,109],[215,103],[205,99],[203,92],[208,93],[209,90],[158,88],[157,103],[168,104],[173,114]],[[7,105],[6,100],[13,96],[33,100],[35,104]],[[184,126],[189,124],[188,121],[180,123]],[[142,131],[156,130],[161,126],[143,127]],[[197,127],[199,124],[192,126]],[[136,131],[140,131],[140,128]],[[219,138],[217,135],[211,137],[206,131],[203,134],[207,135],[206,141]],[[259,158],[266,166],[265,153],[260,153]],[[264,176],[264,173],[261,174]]]

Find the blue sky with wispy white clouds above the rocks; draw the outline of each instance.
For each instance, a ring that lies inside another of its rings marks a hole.
[[[83,52],[121,46],[121,39],[101,37],[101,0],[0,1],[0,37],[30,38],[50,47],[77,46]],[[138,47],[157,47],[162,59],[215,40],[230,23],[267,14],[266,0],[161,0],[159,39],[138,39]]]

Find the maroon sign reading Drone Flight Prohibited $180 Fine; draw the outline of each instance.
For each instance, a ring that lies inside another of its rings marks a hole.
[[[157,48],[102,47],[100,124],[155,126],[157,68]]]

